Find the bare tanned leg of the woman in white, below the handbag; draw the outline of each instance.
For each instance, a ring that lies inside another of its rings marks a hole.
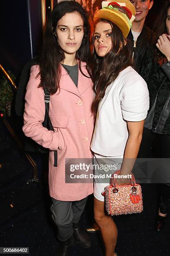
[[[117,227],[110,215],[104,211],[104,202],[94,197],[94,219],[101,229],[106,256],[114,256],[114,249],[117,243]]]

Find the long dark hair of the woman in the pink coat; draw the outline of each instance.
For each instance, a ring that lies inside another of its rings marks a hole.
[[[54,94],[59,88],[61,78],[60,62],[64,60],[65,55],[58,44],[57,36],[54,35],[58,21],[66,13],[79,13],[84,21],[84,37],[79,50],[76,52],[76,59],[79,60],[79,69],[81,70],[81,61],[87,61],[89,57],[89,23],[86,11],[75,1],[63,1],[58,3],[46,25],[46,31],[43,38],[43,48],[40,57],[40,87]]]

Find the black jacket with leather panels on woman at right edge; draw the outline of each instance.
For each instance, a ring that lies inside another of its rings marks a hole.
[[[160,66],[154,58],[155,50],[148,47],[140,75],[147,82],[150,108],[157,97],[152,132],[170,135],[170,62]]]

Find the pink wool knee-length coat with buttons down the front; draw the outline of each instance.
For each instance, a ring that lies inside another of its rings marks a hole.
[[[84,74],[86,63],[81,63]],[[79,71],[78,87],[61,66],[60,92],[51,95],[49,115],[55,132],[48,131],[42,123],[45,116],[44,92],[36,79],[39,66],[30,70],[30,79],[25,95],[23,132],[38,144],[50,149],[49,192],[61,201],[76,201],[93,193],[92,183],[65,183],[66,158],[91,158],[90,142],[94,128],[91,114],[93,102],[92,82]],[[59,149],[58,149],[59,147]],[[58,166],[54,167],[54,153],[57,150]]]

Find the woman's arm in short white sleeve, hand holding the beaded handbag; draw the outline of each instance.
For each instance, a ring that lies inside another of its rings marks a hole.
[[[129,137],[124,149],[121,175],[132,172],[142,140],[144,120],[149,109],[149,92],[146,82],[137,73],[129,73],[119,94],[122,116],[127,121]],[[127,183],[129,179],[118,179],[118,183]]]

